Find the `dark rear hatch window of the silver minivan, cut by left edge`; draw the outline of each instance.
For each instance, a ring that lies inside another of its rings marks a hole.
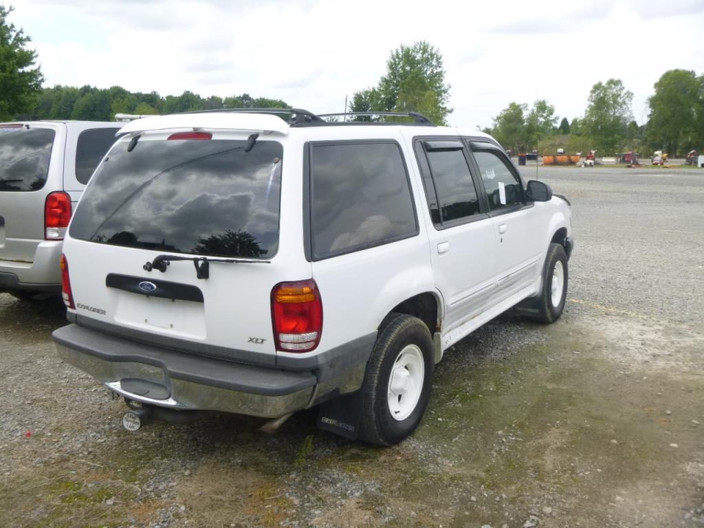
[[[0,129],[0,191],[38,191],[49,175],[56,132],[47,128]]]

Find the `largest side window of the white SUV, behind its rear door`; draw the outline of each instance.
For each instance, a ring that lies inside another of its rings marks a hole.
[[[417,234],[408,175],[397,144],[313,144],[310,152],[314,258]]]

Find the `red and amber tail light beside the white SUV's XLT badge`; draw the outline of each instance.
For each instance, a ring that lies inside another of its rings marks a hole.
[[[276,349],[310,352],[320,342],[322,301],[314,280],[282,282],[271,292]]]

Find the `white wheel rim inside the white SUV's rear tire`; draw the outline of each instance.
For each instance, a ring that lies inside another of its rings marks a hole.
[[[389,413],[394,420],[406,420],[415,410],[423,390],[425,364],[423,353],[415,344],[407,345],[398,353],[391,367],[386,389]]]

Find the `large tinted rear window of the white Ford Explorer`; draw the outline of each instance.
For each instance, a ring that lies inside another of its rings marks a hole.
[[[84,192],[75,239],[196,255],[271,258],[283,147],[247,140],[120,142]]]

